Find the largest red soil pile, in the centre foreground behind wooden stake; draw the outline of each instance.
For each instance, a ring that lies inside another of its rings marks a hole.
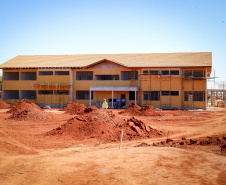
[[[112,111],[97,109],[86,115],[78,115],[67,123],[46,133],[51,135],[72,136],[83,140],[96,138],[102,142],[119,141],[123,130],[123,140],[141,139],[161,136],[162,132],[145,125],[134,117],[121,119]]]

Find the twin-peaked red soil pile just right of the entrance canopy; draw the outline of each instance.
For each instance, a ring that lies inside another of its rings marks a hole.
[[[131,103],[128,109],[119,112],[119,114],[133,115],[133,116],[160,116],[160,114],[154,111],[154,108],[152,105],[147,105],[141,108],[139,105],[135,103]]]

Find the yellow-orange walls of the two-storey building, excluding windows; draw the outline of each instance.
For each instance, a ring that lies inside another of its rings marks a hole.
[[[144,68],[145,69],[145,68]],[[139,69],[142,73],[144,69]],[[126,67],[119,66],[117,64],[111,64],[106,62],[105,64],[98,64],[87,69],[4,69],[3,72],[36,72],[36,81],[4,81],[3,80],[3,91],[4,90],[69,90],[70,91],[70,77],[73,77],[73,101],[78,103],[84,103],[89,105],[89,100],[77,100],[76,91],[89,91],[90,87],[130,87],[131,81],[121,80],[121,71],[131,71]],[[153,68],[152,70],[169,70],[169,68]],[[154,107],[185,107],[185,108],[206,108],[206,102],[188,102],[184,101],[185,91],[207,91],[206,80],[185,80],[183,78],[183,70],[205,70],[206,77],[207,71],[211,71],[211,67],[203,68],[170,68],[170,70],[179,70],[180,75],[139,75],[142,80],[134,81],[132,84],[139,88],[137,103],[143,104],[143,91],[179,91],[179,96],[161,96],[159,101],[147,101],[146,104],[151,104]],[[68,76],[39,76],[39,71],[69,71]],[[76,80],[76,71],[93,71],[93,80]],[[72,74],[71,74],[72,72]],[[115,74],[119,75],[117,81],[96,81],[94,76],[97,74]],[[146,80],[145,80],[146,79]],[[126,104],[134,102],[129,101],[129,92],[114,92],[114,98],[121,98],[121,94],[126,94]],[[206,96],[207,97],[207,96]],[[95,101],[102,102],[103,99],[112,98],[112,92],[93,92],[92,104]],[[18,100],[5,100],[7,103],[14,103]],[[36,100],[31,100],[39,105],[66,105],[70,101],[69,95],[39,95],[37,93]]]

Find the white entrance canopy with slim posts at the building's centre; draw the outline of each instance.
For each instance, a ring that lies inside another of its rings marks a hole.
[[[135,91],[135,103],[137,102],[136,91],[138,87],[90,87],[89,88],[89,106],[91,106],[91,91],[111,91],[112,92],[112,108],[113,106],[113,97],[114,91]]]

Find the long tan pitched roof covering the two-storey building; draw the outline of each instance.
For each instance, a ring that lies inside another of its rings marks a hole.
[[[87,68],[103,61],[125,67],[201,67],[212,66],[212,52],[19,55],[0,68]]]

